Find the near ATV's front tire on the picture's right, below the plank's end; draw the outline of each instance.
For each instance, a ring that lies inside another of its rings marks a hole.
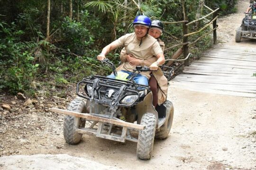
[[[137,157],[141,160],[148,160],[151,158],[154,138],[155,138],[155,128],[156,128],[156,118],[152,113],[145,113],[141,119],[141,125],[146,125],[144,130],[140,130],[137,143]]]

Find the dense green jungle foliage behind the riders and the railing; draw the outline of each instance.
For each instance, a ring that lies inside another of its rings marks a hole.
[[[207,8],[200,11],[201,1],[184,0],[189,21],[210,12]],[[235,3],[204,0],[208,7],[220,8],[221,14],[234,12]],[[181,11],[182,0],[0,0],[0,90],[24,92],[31,90],[34,80],[65,84],[106,73],[95,57],[108,43],[133,32],[135,16],[173,22],[184,19]],[[166,47],[182,42],[181,24],[165,25],[165,33]],[[192,52],[206,48],[211,41],[206,36]],[[175,49],[167,51],[166,58],[173,52]],[[117,64],[118,53],[116,50],[108,58]]]

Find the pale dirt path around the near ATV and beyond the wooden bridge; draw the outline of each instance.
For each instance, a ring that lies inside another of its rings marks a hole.
[[[238,14],[219,19],[219,39],[238,44],[235,43],[235,29],[247,6],[248,0],[239,0],[238,7],[243,8],[238,8]],[[242,40],[239,45],[255,43],[254,40]],[[102,165],[106,170],[256,170],[255,98],[169,89],[168,98],[174,103],[173,127],[166,140],[155,140],[153,157],[149,161],[138,160],[137,144],[129,141],[119,143],[84,135],[80,144],[66,144],[62,133],[64,116],[52,114],[47,108],[66,106],[74,96],[70,95],[65,100],[48,99],[51,104],[45,104],[45,99],[40,97],[37,109],[25,108],[23,114],[12,116],[15,119],[2,114],[0,169],[51,169],[49,160],[54,160],[62,163],[56,166],[57,169],[66,170],[85,169],[82,164],[96,169],[99,164],[93,164],[94,161],[112,166]],[[34,155],[39,159],[30,157],[30,161],[23,161],[21,157],[6,157],[22,154],[68,154],[79,158],[75,161],[73,157],[69,160],[58,155]],[[35,166],[38,162],[41,162],[40,167]]]

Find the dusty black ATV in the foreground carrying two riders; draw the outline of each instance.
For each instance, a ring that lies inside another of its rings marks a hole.
[[[107,64],[116,72],[109,59]],[[174,107],[166,101],[156,108],[152,105],[149,86],[136,84],[132,78],[143,71],[152,71],[137,66],[128,80],[105,76],[89,76],[77,84],[74,99],[67,110],[51,108],[66,114],[64,118],[64,139],[68,144],[78,144],[83,134],[119,142],[137,142],[137,157],[151,158],[154,139],[165,139],[172,127]],[[171,75],[167,74],[166,76]]]

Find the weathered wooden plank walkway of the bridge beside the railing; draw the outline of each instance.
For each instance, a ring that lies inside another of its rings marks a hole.
[[[170,86],[188,90],[256,97],[256,48],[216,45],[192,61]]]

